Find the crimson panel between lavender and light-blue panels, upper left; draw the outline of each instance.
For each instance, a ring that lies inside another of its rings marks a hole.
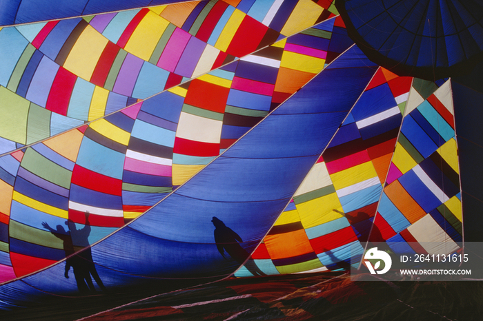
[[[67,116],[70,96],[72,95],[72,90],[74,90],[75,81],[77,81],[75,74],[60,67],[55,76],[54,83],[52,83],[52,87],[50,88],[46,109]]]

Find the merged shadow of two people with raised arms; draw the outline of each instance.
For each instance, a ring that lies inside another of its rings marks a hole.
[[[47,222],[42,222],[43,227],[48,229],[54,236],[63,241],[63,250],[67,257],[64,276],[69,278],[68,273],[70,267],[72,267],[74,270],[75,281],[77,283],[77,289],[79,289],[79,292],[81,293],[96,291],[92,278],[94,278],[101,290],[106,289],[92,260],[92,251],[88,242],[88,237],[91,231],[88,211],[86,211],[85,217],[86,222],[84,227],[81,229],[77,229],[72,220],[67,220],[65,224],[68,226],[68,231],[63,229],[61,225],[57,225],[57,229],[52,229]],[[81,245],[82,247],[86,248],[79,251],[79,253],[72,255],[75,253],[74,240],[77,245]]]

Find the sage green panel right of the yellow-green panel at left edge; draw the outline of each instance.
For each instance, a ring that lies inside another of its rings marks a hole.
[[[50,115],[52,112],[34,103],[30,104],[27,123],[27,143],[32,144],[50,137]]]

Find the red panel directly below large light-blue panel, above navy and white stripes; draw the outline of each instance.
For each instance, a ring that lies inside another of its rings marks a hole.
[[[72,184],[116,196],[122,195],[122,180],[92,172],[79,165],[72,171]]]

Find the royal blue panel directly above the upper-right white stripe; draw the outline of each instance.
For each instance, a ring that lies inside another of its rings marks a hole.
[[[355,121],[362,121],[370,116],[397,106],[393,93],[387,83],[367,90],[357,101],[357,108],[351,112]]]

